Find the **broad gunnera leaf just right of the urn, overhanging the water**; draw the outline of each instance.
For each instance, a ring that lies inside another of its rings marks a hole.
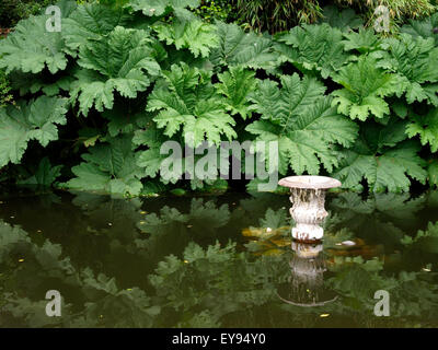
[[[406,122],[390,120],[388,126],[368,122],[359,139],[332,174],[344,188],[362,190],[362,179],[374,192],[410,190],[411,178],[425,183],[425,161],[418,156],[417,141],[406,141]],[[410,176],[410,177],[407,177]]]

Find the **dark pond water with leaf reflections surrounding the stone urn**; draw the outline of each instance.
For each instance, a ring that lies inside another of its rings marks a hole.
[[[293,249],[289,208],[274,194],[1,197],[0,327],[438,326],[438,192],[330,194],[323,245]]]

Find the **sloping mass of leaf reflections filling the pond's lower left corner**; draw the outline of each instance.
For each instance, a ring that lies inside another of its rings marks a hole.
[[[145,291],[120,290],[114,278],[94,277],[90,268],[78,270],[62,257],[60,245],[45,241],[38,246],[25,231],[4,222],[0,231],[0,266],[5,271],[0,314],[5,322],[30,327],[150,327],[159,314],[160,307],[151,305]],[[62,305],[60,318],[45,313],[44,295],[54,285],[67,302],[76,301],[74,307]]]

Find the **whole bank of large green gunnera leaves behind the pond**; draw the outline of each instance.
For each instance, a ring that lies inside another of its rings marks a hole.
[[[160,173],[166,140],[261,140],[278,141],[280,175],[437,185],[436,15],[384,38],[332,9],[346,21],[270,36],[205,22],[196,0],[110,2],[62,0],[61,32],[32,16],[2,42],[21,95],[0,109],[2,179],[49,156],[61,187],[136,196],[187,186]]]

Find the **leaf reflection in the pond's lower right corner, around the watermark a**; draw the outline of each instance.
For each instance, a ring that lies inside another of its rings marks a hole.
[[[420,316],[425,324],[435,324],[438,315],[438,285],[434,280],[437,276],[425,272],[400,271],[388,275],[382,270],[382,261],[377,259],[350,259],[345,264],[331,267],[336,273],[327,279],[327,283],[343,295],[338,305],[339,312],[357,313],[358,317],[372,320],[376,300],[373,294],[378,290],[390,293],[391,317],[399,317],[404,324],[408,316]]]

